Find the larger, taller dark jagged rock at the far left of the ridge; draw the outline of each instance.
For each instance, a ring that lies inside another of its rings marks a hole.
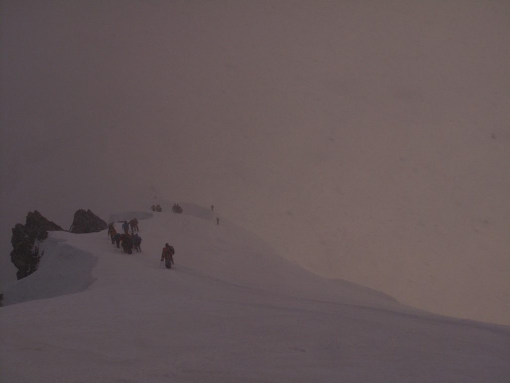
[[[27,223],[16,224],[12,229],[11,261],[18,269],[18,279],[24,278],[37,270],[39,259],[39,244],[48,236],[48,231],[63,230],[59,225],[48,221],[37,210],[27,214]]]

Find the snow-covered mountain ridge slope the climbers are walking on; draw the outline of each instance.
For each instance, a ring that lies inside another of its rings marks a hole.
[[[4,292],[0,381],[508,381],[510,327],[316,276],[187,208],[112,216],[146,218],[141,253],[121,253],[106,231],[52,232],[39,270]]]

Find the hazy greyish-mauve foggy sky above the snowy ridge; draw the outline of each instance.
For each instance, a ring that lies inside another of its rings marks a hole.
[[[65,227],[158,195],[321,275],[510,323],[507,2],[0,10],[4,271],[29,210]]]

